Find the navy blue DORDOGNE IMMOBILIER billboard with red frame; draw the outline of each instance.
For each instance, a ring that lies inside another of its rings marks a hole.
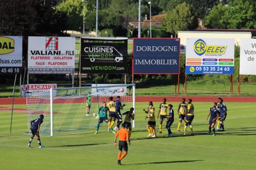
[[[133,74],[179,74],[179,38],[133,38]]]

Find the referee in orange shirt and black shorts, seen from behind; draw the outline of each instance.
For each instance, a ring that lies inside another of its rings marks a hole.
[[[117,164],[121,164],[121,160],[128,154],[128,145],[127,142],[129,142],[129,145],[131,145],[131,141],[129,138],[128,131],[125,129],[124,123],[122,123],[122,129],[116,132],[115,139],[114,139],[114,146],[116,147],[116,139],[119,136],[119,153],[118,153],[118,160]],[[124,149],[124,154],[122,155],[122,150]],[[121,156],[122,155],[122,156]]]

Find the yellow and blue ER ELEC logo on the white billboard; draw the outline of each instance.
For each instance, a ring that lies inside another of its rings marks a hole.
[[[202,39],[198,39],[194,43],[194,52],[199,56],[203,54],[223,55],[225,54],[226,49],[227,49],[227,46],[206,45],[205,41]]]

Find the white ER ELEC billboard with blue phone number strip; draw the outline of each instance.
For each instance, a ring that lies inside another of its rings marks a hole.
[[[234,74],[234,39],[187,38],[186,74]]]

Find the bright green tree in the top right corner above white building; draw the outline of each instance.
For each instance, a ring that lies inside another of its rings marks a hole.
[[[256,28],[256,1],[234,0],[228,4],[220,23],[228,29]]]

